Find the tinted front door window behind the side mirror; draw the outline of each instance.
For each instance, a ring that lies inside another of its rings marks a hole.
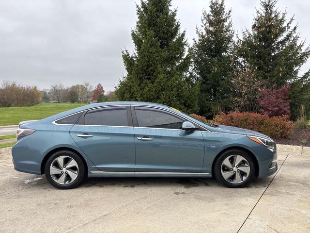
[[[135,107],[139,127],[181,129],[182,117],[156,108]]]

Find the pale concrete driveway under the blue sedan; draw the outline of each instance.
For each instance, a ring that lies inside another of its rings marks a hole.
[[[89,179],[58,190],[0,150],[0,232],[310,232],[310,153],[279,152],[276,176],[229,189],[213,179]]]

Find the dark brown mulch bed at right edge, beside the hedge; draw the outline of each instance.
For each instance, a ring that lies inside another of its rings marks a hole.
[[[296,145],[310,147],[310,127],[306,129],[294,129],[294,134],[289,139],[277,139],[277,144]]]

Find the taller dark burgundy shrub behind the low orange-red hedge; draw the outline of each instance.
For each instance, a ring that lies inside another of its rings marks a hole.
[[[261,98],[257,101],[262,107],[261,113],[268,116],[286,116],[290,117],[290,101],[289,90],[291,86],[283,86],[277,89],[275,85],[272,90],[263,89],[260,94]]]

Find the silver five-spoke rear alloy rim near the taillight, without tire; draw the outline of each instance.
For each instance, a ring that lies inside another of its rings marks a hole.
[[[70,156],[59,156],[50,165],[49,173],[59,184],[69,184],[78,177],[78,163]]]

